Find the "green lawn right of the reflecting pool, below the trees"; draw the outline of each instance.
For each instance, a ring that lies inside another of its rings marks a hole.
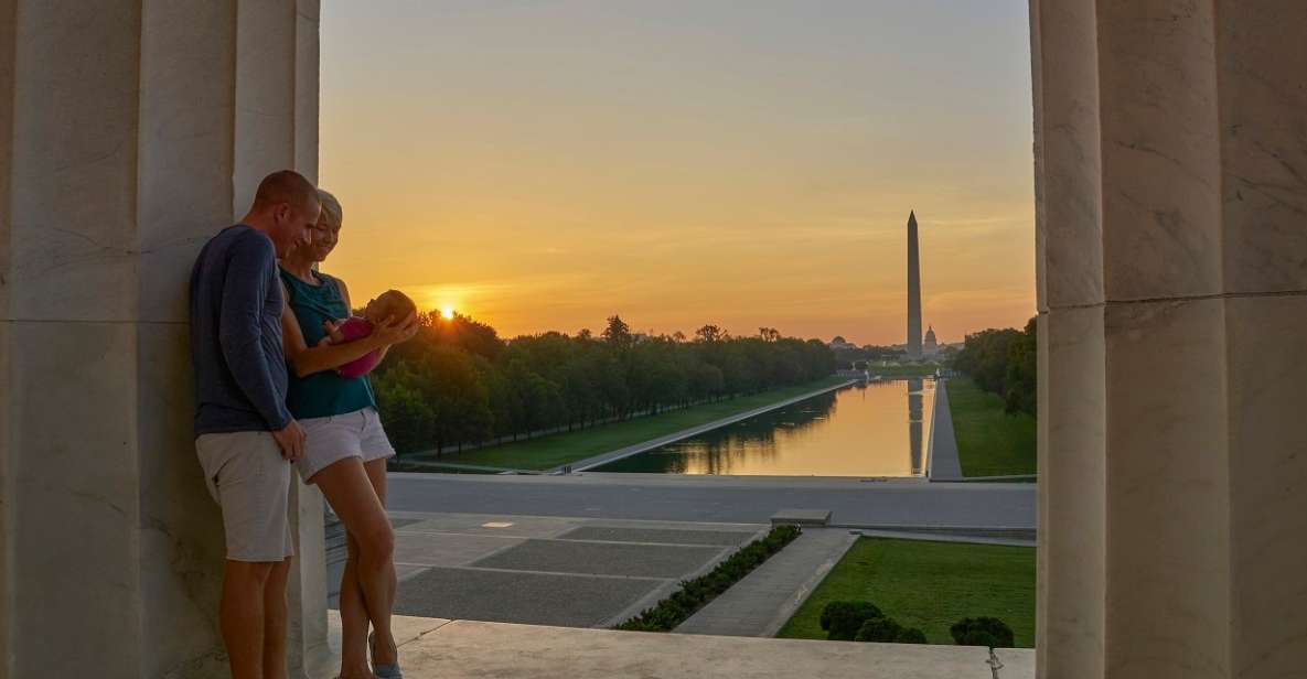
[[[949,380],[948,390],[963,477],[1035,473],[1035,418],[1004,413],[1002,398],[967,377]]]

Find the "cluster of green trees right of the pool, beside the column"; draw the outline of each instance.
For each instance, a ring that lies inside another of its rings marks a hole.
[[[1002,397],[1008,413],[1035,414],[1035,319],[1025,330],[988,329],[968,334],[953,368],[985,392]]]

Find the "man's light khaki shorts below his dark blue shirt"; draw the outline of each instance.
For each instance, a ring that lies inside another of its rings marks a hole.
[[[227,559],[281,561],[295,554],[286,516],[290,462],[267,431],[205,434],[195,441],[209,495],[222,508]]]

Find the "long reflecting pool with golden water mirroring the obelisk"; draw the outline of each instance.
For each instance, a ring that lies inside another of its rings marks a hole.
[[[921,379],[848,387],[596,471],[921,475],[933,393],[933,380]]]

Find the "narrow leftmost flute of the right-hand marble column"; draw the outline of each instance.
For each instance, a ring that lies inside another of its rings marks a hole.
[[[1039,334],[1038,667],[1103,676],[1106,402],[1094,3],[1031,1]]]

